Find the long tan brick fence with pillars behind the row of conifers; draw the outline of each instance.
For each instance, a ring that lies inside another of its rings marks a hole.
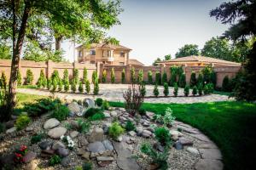
[[[9,59],[0,59],[0,72],[4,71],[8,80],[9,80],[9,73],[11,70],[11,60]],[[91,75],[93,71],[97,71],[98,76],[100,79],[102,79],[102,72],[104,70],[107,71],[107,82],[111,81],[110,73],[112,68],[114,69],[115,74],[115,82],[120,83],[121,82],[121,74],[123,69],[125,70],[125,82],[129,83],[131,82],[131,68],[134,67],[136,77],[138,75],[138,71],[143,70],[143,80],[148,81],[148,71],[152,71],[153,74],[153,81],[155,79],[155,73],[160,72],[163,74],[164,71],[167,73],[168,80],[170,79],[170,66],[139,66],[139,65],[103,65],[103,64],[80,64],[80,63],[68,63],[68,62],[60,62],[55,63],[52,61],[47,62],[35,62],[35,61],[29,61],[29,60],[20,60],[20,73],[22,77],[22,82],[25,81],[26,78],[26,71],[30,69],[33,73],[34,79],[33,84],[38,82],[38,77],[40,76],[40,71],[43,70],[46,77],[50,77],[52,72],[57,70],[59,71],[60,77],[63,77],[63,72],[65,69],[67,69],[69,73],[69,77],[73,77],[73,70],[78,69],[79,70],[79,78],[83,77],[83,70],[84,67],[88,70],[88,79],[91,82]],[[192,71],[195,71],[195,73],[199,73],[201,69],[204,68],[204,66],[183,66],[183,71],[186,74],[186,82],[189,83],[190,81],[190,75]],[[214,71],[217,75],[217,86],[221,87],[222,82],[225,76],[235,77],[236,73],[240,71],[240,66],[216,66],[213,67]]]

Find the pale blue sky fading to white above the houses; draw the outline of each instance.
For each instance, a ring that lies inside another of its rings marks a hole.
[[[224,0],[123,0],[119,15],[121,25],[107,31],[121,45],[131,48],[130,58],[144,65],[152,65],[154,59],[172,58],[183,45],[204,43],[221,36],[228,26],[211,18],[209,12]],[[78,46],[78,45],[77,45]],[[73,61],[73,43],[62,42],[66,59]]]

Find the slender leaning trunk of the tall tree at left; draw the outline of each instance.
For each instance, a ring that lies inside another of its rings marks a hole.
[[[19,30],[19,36],[15,45],[15,51],[13,53],[12,65],[11,65],[11,72],[9,78],[9,115],[10,116],[15,108],[16,104],[16,88],[17,88],[17,77],[19,71],[19,64],[20,64],[20,53],[23,44],[23,40],[26,34],[26,23],[29,16],[31,8],[28,4],[25,5],[24,13],[22,16],[22,21]]]

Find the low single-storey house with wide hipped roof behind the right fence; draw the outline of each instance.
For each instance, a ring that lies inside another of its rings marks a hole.
[[[181,57],[157,62],[158,65],[184,65],[184,66],[241,66],[240,63],[231,62],[223,59],[214,59],[211,57],[195,56]]]

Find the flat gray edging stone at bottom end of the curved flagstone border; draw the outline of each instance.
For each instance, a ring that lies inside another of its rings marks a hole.
[[[195,163],[195,170],[222,170],[223,163],[218,160],[200,159]]]

